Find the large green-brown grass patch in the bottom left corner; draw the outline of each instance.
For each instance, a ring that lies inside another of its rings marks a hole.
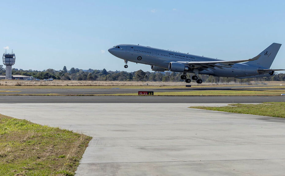
[[[91,137],[0,115],[0,175],[74,175]]]

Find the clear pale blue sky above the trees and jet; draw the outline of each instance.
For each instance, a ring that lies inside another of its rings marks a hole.
[[[255,57],[281,43],[272,67],[285,69],[285,1],[5,1],[0,46],[13,68],[150,71],[108,53],[140,44],[223,60]]]

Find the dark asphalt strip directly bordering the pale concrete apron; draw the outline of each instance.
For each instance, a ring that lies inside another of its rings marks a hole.
[[[262,103],[267,101],[285,101],[285,96],[0,96],[0,103]]]

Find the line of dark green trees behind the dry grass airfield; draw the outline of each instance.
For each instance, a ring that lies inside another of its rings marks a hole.
[[[0,65],[0,75],[5,75],[5,68]],[[58,79],[58,80],[88,80],[88,81],[163,81],[163,82],[181,82],[181,73],[176,72],[150,72],[150,71],[107,71],[103,70],[82,70],[78,68],[70,68],[66,66],[62,70],[47,69],[43,71],[12,69],[12,75],[32,76],[38,79]],[[190,74],[189,74],[190,76]],[[285,81],[285,74],[279,73],[270,77],[259,77],[249,79],[236,79],[225,77],[214,77],[208,75],[199,75],[204,82],[249,82],[249,81]]]

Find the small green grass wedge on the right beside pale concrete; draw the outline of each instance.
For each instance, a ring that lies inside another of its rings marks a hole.
[[[285,102],[264,102],[263,104],[257,105],[229,104],[229,106],[224,107],[196,106],[189,108],[285,118]]]

